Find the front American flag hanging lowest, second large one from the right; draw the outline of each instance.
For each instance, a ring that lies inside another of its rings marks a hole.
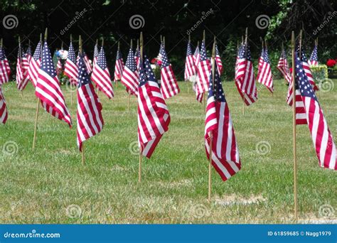
[[[205,117],[205,149],[208,160],[210,158],[210,134],[213,135],[212,165],[223,180],[228,180],[240,170],[241,161],[217,64],[215,64],[214,82],[210,75]]]

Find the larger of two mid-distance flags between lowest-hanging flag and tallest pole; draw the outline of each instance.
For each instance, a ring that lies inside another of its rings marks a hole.
[[[250,47],[243,44],[238,50],[235,68],[235,85],[245,104],[249,106],[257,101],[253,63],[250,57]]]

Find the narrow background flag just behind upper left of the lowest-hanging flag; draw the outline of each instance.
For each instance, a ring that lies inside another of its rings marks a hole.
[[[205,41],[202,41],[201,43],[200,61],[197,63],[197,65],[198,80],[196,93],[197,95],[200,95],[201,93],[204,93],[206,90],[208,90],[208,82],[210,77],[210,60],[207,58]]]

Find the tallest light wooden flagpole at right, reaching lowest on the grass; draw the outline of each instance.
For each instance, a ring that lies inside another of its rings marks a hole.
[[[292,95],[293,95],[293,153],[294,153],[294,218],[297,222],[297,163],[296,163],[296,102],[295,102],[295,34],[291,32],[291,58],[292,58]]]

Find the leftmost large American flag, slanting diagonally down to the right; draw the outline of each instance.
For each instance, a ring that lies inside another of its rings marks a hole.
[[[46,112],[65,121],[71,127],[70,114],[65,105],[60,82],[58,82],[58,76],[56,75],[55,66],[46,41],[43,44],[41,67],[38,71],[35,95],[41,100]]]

